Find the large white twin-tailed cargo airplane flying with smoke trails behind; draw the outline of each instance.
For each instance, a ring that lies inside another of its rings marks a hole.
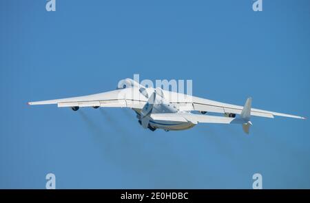
[[[252,99],[248,98],[245,106],[220,103],[214,100],[189,96],[177,92],[169,92],[161,88],[144,87],[136,81],[127,78],[120,83],[116,90],[55,100],[30,102],[29,105],[51,105],[71,107],[77,111],[79,107],[129,107],[136,112],[138,122],[145,129],[183,130],[194,127],[200,122],[240,124],[243,131],[249,133],[252,125],[251,116],[274,118],[284,116],[305,119],[301,116],[280,114],[251,108]],[[207,112],[224,114],[224,116],[209,116],[192,114],[192,111],[206,114]],[[236,118],[236,114],[240,114]]]

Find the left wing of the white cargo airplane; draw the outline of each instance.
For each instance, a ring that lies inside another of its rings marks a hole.
[[[147,98],[134,88],[116,89],[100,94],[54,100],[29,102],[28,105],[57,105],[58,107],[130,107],[142,109]]]

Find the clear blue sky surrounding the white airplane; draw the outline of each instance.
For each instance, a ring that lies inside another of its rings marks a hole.
[[[310,188],[309,120],[253,118],[143,129],[130,109],[30,107],[115,89],[122,78],[192,79],[193,94],[309,116],[310,3],[0,1],[0,188]]]

